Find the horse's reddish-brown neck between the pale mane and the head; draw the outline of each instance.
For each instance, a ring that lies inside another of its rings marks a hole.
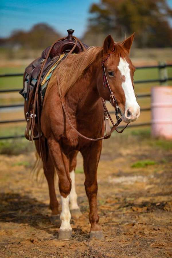
[[[101,63],[100,63],[101,68]],[[73,111],[87,113],[94,108],[100,99],[96,85],[97,64],[93,63],[83,77],[68,91],[66,101],[73,105]]]

